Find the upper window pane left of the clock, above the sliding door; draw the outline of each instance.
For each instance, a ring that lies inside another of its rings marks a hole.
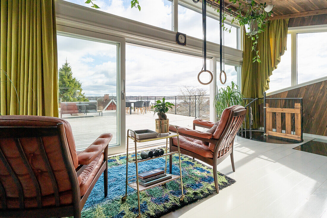
[[[85,4],[85,0],[65,1],[86,7],[92,6],[92,4]],[[172,2],[170,0],[142,0],[139,2],[141,11],[137,8],[130,8],[130,0],[106,0],[94,3],[100,7],[96,10],[172,30]]]

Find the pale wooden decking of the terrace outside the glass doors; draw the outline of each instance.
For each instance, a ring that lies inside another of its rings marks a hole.
[[[177,126],[183,126],[192,129],[192,121],[194,117],[167,114],[169,123]],[[111,144],[117,142],[116,133],[116,112],[115,110],[103,112],[103,116],[98,113],[91,113],[85,116],[84,114],[73,114],[71,116],[63,115],[72,126],[73,135],[75,138],[76,149],[83,150],[94,142],[94,140],[102,133],[110,132],[113,134]],[[157,116],[153,116],[153,112],[146,114],[126,114],[126,132],[127,129],[151,129],[155,130],[154,120]],[[140,147],[149,145],[159,145],[165,143],[165,140],[154,142],[139,143]],[[129,147],[134,147],[134,142],[129,140]]]

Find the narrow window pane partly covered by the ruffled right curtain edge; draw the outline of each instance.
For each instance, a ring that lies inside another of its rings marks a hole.
[[[291,86],[291,43],[291,34],[287,34],[287,50],[281,57],[281,62],[277,65],[277,69],[269,77],[270,82],[267,93]]]

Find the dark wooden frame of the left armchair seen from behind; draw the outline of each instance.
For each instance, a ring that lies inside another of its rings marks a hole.
[[[79,165],[76,169],[74,168],[73,161],[71,159],[70,150],[66,141],[66,135],[64,130],[64,124],[58,123],[57,126],[45,126],[45,127],[34,127],[34,126],[0,126],[0,139],[14,139],[17,148],[20,150],[21,158],[23,159],[24,164],[29,169],[29,174],[33,180],[33,184],[35,189],[37,190],[37,208],[25,208],[24,207],[24,194],[20,181],[17,176],[13,172],[10,167],[6,157],[0,149],[0,160],[6,166],[11,178],[13,179],[17,189],[19,190],[19,209],[8,209],[6,205],[6,195],[4,194],[3,185],[0,183],[0,200],[5,210],[0,210],[0,217],[67,217],[74,216],[75,218],[81,217],[81,210],[90,195],[95,183],[98,178],[104,173],[104,194],[107,196],[108,194],[108,143],[101,149],[100,152],[104,152],[104,159],[96,172],[91,185],[83,196],[80,196],[79,191],[79,182],[77,177],[81,175],[81,173],[86,169],[88,165]],[[62,152],[62,158],[64,161],[64,165],[66,167],[68,176],[70,178],[71,190],[72,190],[72,204],[70,205],[60,205],[59,200],[59,192],[58,185],[53,175],[51,166],[49,164],[48,157],[46,155],[42,137],[46,136],[58,136],[60,141],[60,148]],[[37,138],[39,149],[42,154],[42,159],[46,164],[47,171],[51,177],[51,183],[54,190],[54,198],[56,206],[53,207],[43,207],[41,201],[41,192],[40,187],[38,185],[38,181],[33,171],[31,170],[31,166],[22,150],[22,146],[20,145],[21,138]]]

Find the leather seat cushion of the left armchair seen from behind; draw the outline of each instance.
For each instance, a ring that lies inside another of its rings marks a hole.
[[[81,173],[80,178],[78,180],[81,180],[79,184],[79,191],[80,195],[83,196],[88,188],[90,187],[93,178],[95,177],[95,174],[98,172],[101,163],[104,159],[103,152],[97,156]]]

